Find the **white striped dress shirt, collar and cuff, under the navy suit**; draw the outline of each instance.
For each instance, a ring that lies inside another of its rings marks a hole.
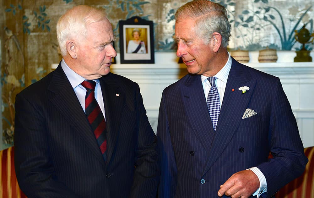
[[[216,75],[214,75],[215,77],[217,77],[216,87],[217,87],[218,93],[219,93],[220,109],[221,109],[222,101],[224,99],[225,89],[226,89],[227,80],[228,80],[229,72],[231,69],[231,63],[232,63],[232,59],[230,57],[229,52],[228,52],[228,55],[229,55],[229,57],[228,57],[228,60],[227,60],[227,63],[225,64],[225,66]],[[208,76],[201,75],[202,85],[203,85],[203,89],[204,89],[204,95],[205,95],[206,99],[207,99],[208,92],[209,92],[210,87],[211,87],[207,78],[208,78]],[[218,119],[218,121],[219,121],[219,119]],[[259,197],[262,193],[267,192],[267,182],[266,182],[266,178],[265,178],[264,174],[262,173],[262,171],[260,171],[260,169],[257,167],[248,168],[247,170],[252,170],[253,173],[255,173],[257,175],[257,177],[259,179],[259,183],[260,183],[259,188],[255,191],[255,193],[253,195],[254,196],[257,195],[257,197]]]

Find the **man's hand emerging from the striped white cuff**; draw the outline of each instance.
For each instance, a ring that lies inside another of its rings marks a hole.
[[[259,179],[251,170],[234,173],[224,184],[220,185],[218,196],[227,195],[232,198],[250,197],[259,188]]]

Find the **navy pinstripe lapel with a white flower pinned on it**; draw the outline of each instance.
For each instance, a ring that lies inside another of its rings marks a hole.
[[[232,59],[232,66],[227,80],[214,140],[203,174],[205,174],[218,159],[225,147],[229,144],[233,134],[236,132],[254,91],[255,84],[256,80],[250,79],[241,64]],[[250,89],[242,94],[242,91],[238,90],[241,86],[248,86]],[[234,91],[232,91],[232,89],[234,89]]]

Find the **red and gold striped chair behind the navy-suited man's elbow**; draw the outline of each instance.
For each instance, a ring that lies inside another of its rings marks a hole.
[[[304,173],[280,189],[276,198],[314,198],[314,146],[305,148],[304,153],[309,159]]]

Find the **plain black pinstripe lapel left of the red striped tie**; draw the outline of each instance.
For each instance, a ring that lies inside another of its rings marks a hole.
[[[77,134],[86,142],[87,147],[105,164],[99,146],[95,141],[94,133],[67,76],[61,68],[61,64],[55,70],[48,90],[55,93],[54,97],[51,98],[52,104],[76,129]]]

